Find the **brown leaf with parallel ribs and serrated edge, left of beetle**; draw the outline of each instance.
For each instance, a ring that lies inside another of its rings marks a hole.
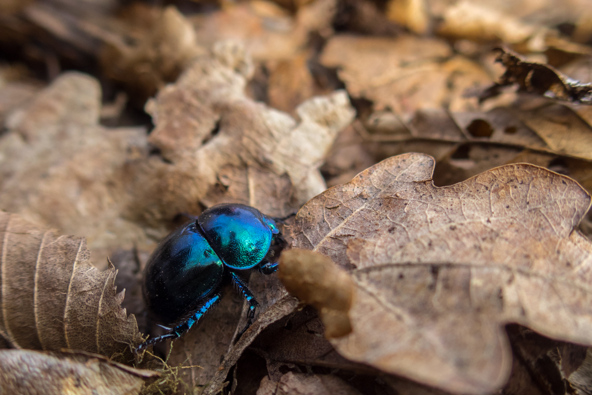
[[[99,272],[83,238],[0,212],[0,339],[4,347],[77,349],[125,360],[140,334],[121,309],[117,271]]]

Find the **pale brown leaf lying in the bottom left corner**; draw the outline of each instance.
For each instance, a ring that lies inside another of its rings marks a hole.
[[[0,350],[0,388],[9,394],[140,393],[144,379],[156,372],[117,364],[100,355],[46,354]]]

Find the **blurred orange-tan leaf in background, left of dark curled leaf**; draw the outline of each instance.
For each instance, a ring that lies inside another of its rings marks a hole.
[[[474,111],[477,100],[463,97],[464,91],[491,83],[477,63],[452,56],[445,41],[413,35],[336,35],[327,42],[320,61],[337,67],[350,95],[374,102],[377,110],[391,108],[406,119],[417,109],[442,106]]]

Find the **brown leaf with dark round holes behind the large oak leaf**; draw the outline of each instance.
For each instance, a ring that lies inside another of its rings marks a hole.
[[[592,150],[590,106],[570,108],[530,99],[487,112],[422,110],[407,122],[391,111],[375,111],[365,121],[352,124],[358,137],[348,151],[337,145],[332,148],[324,175],[333,186],[368,167],[366,158],[376,162],[419,151],[436,158],[434,180],[439,186],[503,164],[527,162],[570,176],[592,192],[586,170]],[[342,157],[342,150],[353,154]]]

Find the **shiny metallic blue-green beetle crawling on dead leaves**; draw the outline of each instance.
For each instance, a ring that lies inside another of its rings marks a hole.
[[[238,273],[258,269],[274,273],[272,259],[286,246],[276,221],[258,209],[240,204],[213,206],[194,222],[168,235],[152,253],[144,272],[142,292],[153,318],[166,323],[164,335],[151,338],[136,352],[165,339],[176,339],[220,301],[220,288],[230,279],[249,304],[247,325],[255,320],[259,303]]]

